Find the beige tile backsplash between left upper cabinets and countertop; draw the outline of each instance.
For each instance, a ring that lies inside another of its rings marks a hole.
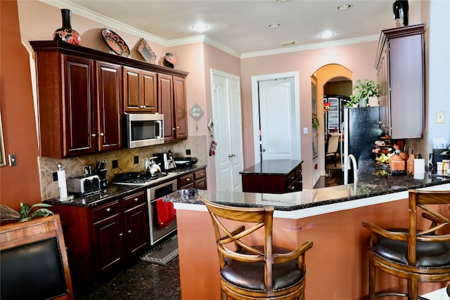
[[[191,150],[191,155],[186,155],[186,150]],[[83,174],[83,167],[91,166],[94,169],[96,161],[105,158],[106,177],[111,182],[117,173],[144,171],[145,161],[152,157],[153,153],[167,152],[171,150],[174,157],[196,157],[197,164],[207,164],[207,138],[206,136],[188,136],[184,141],[165,143],[163,145],[154,145],[149,147],[122,149],[110,152],[100,152],[94,155],[84,155],[68,159],[56,159],[50,157],[39,157],[39,173],[41,181],[41,197],[46,200],[53,197],[59,197],[58,181],[53,181],[53,172],[58,171],[58,164],[62,164],[66,177]],[[135,162],[138,157],[139,162]],[[118,167],[113,169],[113,160],[117,160]]]

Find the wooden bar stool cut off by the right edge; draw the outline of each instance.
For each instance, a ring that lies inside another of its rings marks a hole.
[[[381,296],[425,299],[418,295],[418,282],[450,280],[450,219],[437,213],[435,204],[450,204],[450,190],[410,190],[409,228],[385,230],[363,222],[372,232],[368,242],[369,300]],[[428,229],[418,228],[418,213],[430,220]],[[408,280],[408,293],[375,294],[376,269]],[[450,286],[447,293],[450,296]]]

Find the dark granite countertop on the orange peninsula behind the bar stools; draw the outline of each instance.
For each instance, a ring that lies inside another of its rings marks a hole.
[[[359,161],[358,177],[356,184],[294,193],[230,193],[198,190],[194,196],[189,196],[185,190],[178,190],[163,199],[166,202],[203,204],[199,200],[199,195],[203,195],[207,200],[235,207],[273,206],[280,211],[294,211],[450,183],[450,178],[438,178],[426,172],[423,178],[414,178],[413,175],[392,176],[389,172],[380,171],[372,159]]]

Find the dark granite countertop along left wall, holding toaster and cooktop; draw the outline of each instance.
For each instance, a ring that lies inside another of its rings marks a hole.
[[[167,176],[155,179],[146,184],[141,185],[118,185],[115,183],[108,183],[108,189],[105,193],[98,193],[95,195],[89,195],[85,197],[75,197],[72,200],[60,201],[59,198],[51,198],[44,200],[44,203],[51,205],[68,205],[75,207],[96,207],[98,205],[110,202],[117,199],[117,197],[124,197],[138,192],[139,190],[144,190],[146,188],[152,188],[153,186],[159,185],[161,183],[166,183],[167,181],[172,181],[185,174],[190,174],[195,171],[204,169],[206,165],[194,164],[192,167],[177,168],[174,171],[168,171]]]

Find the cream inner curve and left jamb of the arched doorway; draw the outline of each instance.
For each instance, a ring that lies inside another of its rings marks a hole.
[[[314,74],[311,75],[311,84],[316,86],[316,117],[320,121],[319,129],[317,130],[317,157],[313,161],[313,166],[317,165],[317,169],[313,168],[314,184],[319,181],[321,176],[326,176],[325,164],[325,131],[324,131],[324,112],[323,112],[323,96],[324,87],[328,82],[337,81],[353,81],[353,72],[342,65],[329,64],[320,67]],[[345,95],[344,95],[345,96]],[[313,96],[314,98],[314,96]],[[313,109],[314,112],[314,109]],[[314,135],[313,135],[314,138]],[[314,143],[314,141],[313,141]]]

